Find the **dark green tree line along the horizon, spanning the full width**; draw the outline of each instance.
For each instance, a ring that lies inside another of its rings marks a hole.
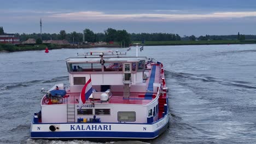
[[[0,34],[4,34],[3,27],[0,27]],[[42,37],[41,37],[42,36]],[[116,30],[113,28],[106,29],[103,33],[94,33],[88,28],[85,28],[82,33],[71,32],[67,33],[65,30],[61,30],[59,33],[15,33],[15,37],[19,37],[20,41],[25,41],[29,38],[42,40],[63,40],[66,39],[69,43],[82,43],[88,41],[89,43],[95,43],[98,41],[115,41],[117,43],[125,43],[129,45],[131,41],[176,41],[176,40],[245,40],[256,39],[256,35],[245,35],[238,32],[237,35],[195,35],[180,37],[178,34],[172,33],[128,33],[126,30]],[[39,41],[39,40],[38,40]]]

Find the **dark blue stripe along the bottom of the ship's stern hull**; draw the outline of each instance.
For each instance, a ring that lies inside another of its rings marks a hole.
[[[123,138],[123,139],[154,139],[163,133],[168,123],[161,129],[154,132],[119,132],[119,131],[49,131],[31,132],[31,138],[35,139],[68,139],[68,138]]]

